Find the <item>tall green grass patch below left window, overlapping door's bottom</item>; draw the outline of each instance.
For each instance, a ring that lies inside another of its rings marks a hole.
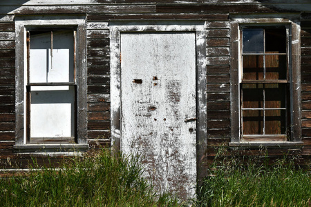
[[[142,178],[138,157],[112,157],[102,150],[75,157],[61,168],[44,168],[0,179],[1,206],[178,206],[157,196]],[[37,167],[37,166],[35,166]]]

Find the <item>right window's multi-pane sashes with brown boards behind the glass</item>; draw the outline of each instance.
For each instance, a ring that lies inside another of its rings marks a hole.
[[[241,30],[241,139],[288,141],[290,136],[289,30]]]

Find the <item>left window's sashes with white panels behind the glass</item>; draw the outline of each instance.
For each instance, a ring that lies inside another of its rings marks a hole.
[[[28,30],[26,139],[28,144],[75,143],[75,30]]]

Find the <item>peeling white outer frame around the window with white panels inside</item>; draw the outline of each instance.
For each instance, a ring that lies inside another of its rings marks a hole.
[[[19,152],[32,151],[59,151],[59,150],[83,150],[87,144],[87,112],[86,112],[86,17],[85,16],[17,16],[15,17],[15,45],[16,45],[16,75],[15,75],[15,99],[16,99],[16,124],[15,124],[15,150]],[[76,133],[73,144],[29,144],[26,140],[26,75],[27,75],[27,31],[31,28],[75,28],[75,84],[77,92],[76,102]]]

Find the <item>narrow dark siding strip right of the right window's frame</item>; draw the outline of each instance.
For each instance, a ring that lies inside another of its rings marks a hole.
[[[311,152],[311,13],[301,15],[301,130],[303,155]]]

